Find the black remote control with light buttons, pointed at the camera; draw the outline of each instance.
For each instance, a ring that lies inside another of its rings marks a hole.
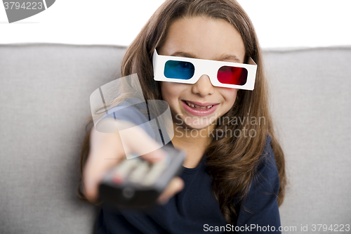
[[[100,199],[109,207],[150,207],[175,176],[179,176],[185,152],[169,146],[161,162],[147,162],[142,157],[123,160],[107,172],[99,186]]]

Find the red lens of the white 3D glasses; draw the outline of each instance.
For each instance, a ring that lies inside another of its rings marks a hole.
[[[223,66],[217,72],[218,82],[222,84],[244,85],[247,79],[247,70],[244,67]]]

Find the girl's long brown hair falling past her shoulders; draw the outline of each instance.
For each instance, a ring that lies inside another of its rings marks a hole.
[[[205,16],[229,22],[241,34],[244,41],[246,58],[253,58],[258,65],[255,89],[239,90],[231,110],[223,115],[223,121],[216,122],[216,129],[232,133],[255,133],[254,137],[225,136],[212,141],[207,153],[208,174],[213,178],[213,193],[220,204],[220,210],[227,223],[236,223],[239,202],[249,192],[256,176],[256,167],[266,143],[267,135],[279,171],[278,204],[284,200],[286,185],[284,152],[274,137],[272,117],[267,104],[267,84],[263,71],[261,51],[256,32],[248,15],[234,0],[168,0],[162,4],[146,23],[143,30],[128,47],[121,64],[121,76],[137,73],[143,89],[145,100],[160,100],[161,90],[154,82],[152,53],[154,48],[162,45],[169,25],[178,18]],[[241,119],[237,124],[228,124],[232,118]],[[243,119],[264,119],[264,124],[242,121]],[[227,121],[225,121],[227,120]],[[87,124],[87,134],[81,150],[80,169],[83,174],[84,164],[88,157],[89,134],[92,120]],[[251,134],[252,136],[253,134]],[[82,178],[81,178],[82,179]],[[86,200],[79,187],[79,198]]]

